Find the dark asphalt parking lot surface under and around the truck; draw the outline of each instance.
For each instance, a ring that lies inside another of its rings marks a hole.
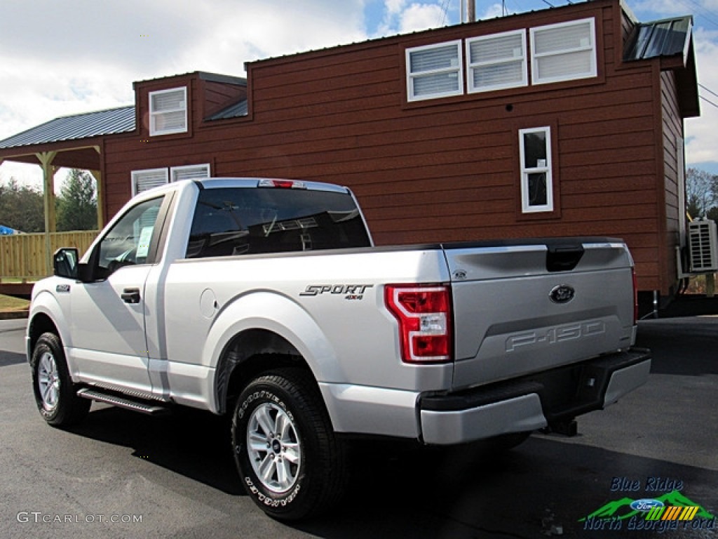
[[[654,356],[648,384],[579,418],[579,436],[535,434],[500,454],[358,446],[342,504],[297,525],[271,520],[243,493],[221,418],[95,404],[73,430],[47,426],[24,323],[0,321],[2,538],[718,537],[703,517],[663,530],[586,519],[676,492],[718,515],[718,318],[641,322],[639,345]]]

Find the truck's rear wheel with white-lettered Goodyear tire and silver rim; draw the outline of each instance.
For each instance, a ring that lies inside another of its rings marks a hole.
[[[248,384],[235,407],[232,446],[249,496],[278,520],[318,515],[345,489],[345,443],[301,369],[269,372]]]

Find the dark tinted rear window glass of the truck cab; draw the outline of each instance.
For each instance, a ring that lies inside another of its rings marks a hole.
[[[368,247],[348,193],[281,188],[204,189],[187,258]]]

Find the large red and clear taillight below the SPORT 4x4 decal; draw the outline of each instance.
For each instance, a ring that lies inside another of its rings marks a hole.
[[[448,286],[387,285],[384,302],[399,323],[402,361],[452,361],[451,296]]]

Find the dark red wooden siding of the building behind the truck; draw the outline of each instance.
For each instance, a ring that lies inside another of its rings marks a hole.
[[[586,17],[596,23],[596,78],[406,101],[406,47]],[[378,244],[620,236],[640,288],[667,293],[675,271],[666,224],[675,216],[663,209],[662,141],[675,126],[661,121],[654,64],[617,65],[623,34],[619,2],[596,0],[264,60],[248,65],[250,116],[231,121],[202,121],[207,103],[221,101],[209,83],[162,80],[190,88],[194,125],[186,136],[144,142],[145,127],[108,139],[108,214],[129,198],[131,170],[210,162],[216,176],[349,185]],[[149,89],[138,87],[143,114]],[[663,111],[670,116],[665,103]],[[531,216],[521,214],[518,129],[540,126],[551,126],[557,209]]]

